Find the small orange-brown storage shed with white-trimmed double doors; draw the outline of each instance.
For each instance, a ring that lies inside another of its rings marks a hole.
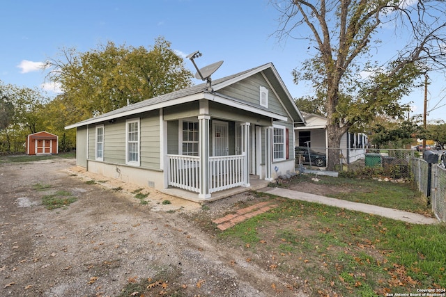
[[[59,137],[41,131],[26,136],[26,154],[57,154]]]

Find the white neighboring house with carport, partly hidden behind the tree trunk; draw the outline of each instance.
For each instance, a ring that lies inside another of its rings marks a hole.
[[[305,127],[295,127],[295,146],[309,147],[316,152],[325,153],[328,156],[328,150],[333,149],[328,147],[328,133],[327,133],[327,118],[322,115],[315,115],[313,113],[302,112],[305,117]],[[353,163],[358,159],[364,159],[365,150],[369,143],[369,138],[362,133],[345,133],[341,137],[339,154],[341,155],[341,162],[345,164]]]

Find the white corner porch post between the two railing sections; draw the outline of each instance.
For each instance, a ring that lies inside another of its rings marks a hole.
[[[209,193],[209,115],[199,115],[199,156],[200,156],[200,193],[201,199],[210,198]]]

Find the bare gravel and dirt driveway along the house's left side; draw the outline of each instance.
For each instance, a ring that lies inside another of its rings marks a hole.
[[[286,286],[246,262],[242,248],[195,227],[190,218],[201,205],[148,188],[141,204],[131,193],[137,186],[74,166],[73,159],[0,164],[0,296],[141,296],[122,290],[143,280],[157,296],[278,296],[271,284]],[[48,210],[42,198],[57,191],[77,201]],[[237,195],[211,211],[248,199]]]

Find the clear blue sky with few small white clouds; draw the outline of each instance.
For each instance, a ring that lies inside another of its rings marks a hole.
[[[274,36],[278,17],[267,0],[2,0],[0,80],[50,89],[39,66],[63,47],[87,51],[109,40],[116,45],[150,47],[155,38],[164,36],[179,53],[201,51],[203,56],[195,60],[199,67],[223,60],[213,79],[272,62],[293,97],[311,95],[310,83],[295,85],[291,76],[309,58],[308,42],[279,42]],[[390,38],[378,49],[386,60],[398,42],[392,34],[393,29],[384,33]],[[195,72],[189,60],[185,65]],[[444,76],[430,77],[428,110],[446,104]],[[413,113],[422,113],[423,99],[420,88],[403,102],[413,102]],[[431,111],[428,120],[446,120],[445,111],[446,106]]]

